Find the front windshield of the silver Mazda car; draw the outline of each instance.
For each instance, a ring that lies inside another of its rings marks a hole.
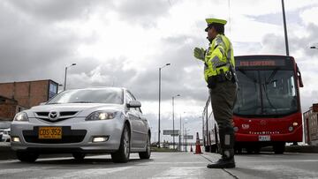
[[[79,89],[58,93],[48,104],[64,103],[111,103],[123,104],[123,90],[110,89]]]

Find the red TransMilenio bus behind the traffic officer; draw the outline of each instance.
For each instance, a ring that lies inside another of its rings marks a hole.
[[[259,153],[273,146],[284,153],[285,143],[302,141],[299,87],[301,74],[292,56],[235,56],[239,79],[233,110],[235,150]],[[216,152],[216,123],[209,100],[203,110],[203,142],[206,151]]]

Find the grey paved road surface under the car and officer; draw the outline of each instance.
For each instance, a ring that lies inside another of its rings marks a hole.
[[[137,154],[125,164],[114,164],[110,155],[46,158],[33,164],[0,160],[0,178],[317,178],[318,154],[237,155],[237,168],[209,169],[215,153],[152,153],[151,160]]]

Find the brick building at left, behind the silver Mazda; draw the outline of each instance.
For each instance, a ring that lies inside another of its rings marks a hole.
[[[57,82],[50,79],[0,83],[0,121],[12,120],[19,111],[49,101],[57,90]]]

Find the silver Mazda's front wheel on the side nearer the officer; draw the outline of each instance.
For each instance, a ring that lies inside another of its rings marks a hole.
[[[119,149],[115,153],[111,153],[111,160],[115,163],[126,163],[129,160],[131,148],[130,131],[128,125],[125,124]]]

